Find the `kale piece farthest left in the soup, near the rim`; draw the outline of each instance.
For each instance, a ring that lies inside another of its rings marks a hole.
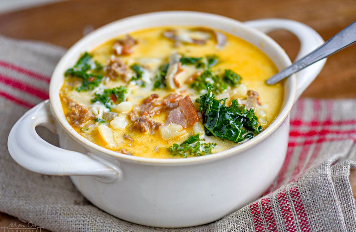
[[[103,66],[98,61],[92,60],[93,55],[85,52],[73,66],[68,69],[64,76],[75,76],[83,79],[82,85],[77,88],[77,91],[93,90],[99,86],[101,79],[103,79]]]

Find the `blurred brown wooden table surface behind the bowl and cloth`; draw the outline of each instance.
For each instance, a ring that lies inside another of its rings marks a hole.
[[[131,15],[164,10],[190,10],[219,14],[239,21],[287,18],[314,28],[324,40],[356,20],[355,0],[72,0],[0,15],[0,34],[46,41],[69,48],[84,31]],[[298,39],[286,31],[269,33],[292,60]],[[302,97],[356,98],[356,45],[331,56]],[[356,196],[356,171],[350,181]],[[0,213],[0,227],[17,222]],[[23,223],[27,225],[27,223]]]

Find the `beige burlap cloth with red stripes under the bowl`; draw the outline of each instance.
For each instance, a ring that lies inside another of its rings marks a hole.
[[[300,99],[291,112],[290,141],[269,194],[208,225],[166,229],[136,225],[91,205],[68,177],[17,165],[9,131],[48,98],[64,49],[0,37],[0,211],[51,231],[356,231],[349,161],[356,153],[356,100]],[[42,133],[48,133],[42,131]],[[56,143],[53,134],[45,134]]]

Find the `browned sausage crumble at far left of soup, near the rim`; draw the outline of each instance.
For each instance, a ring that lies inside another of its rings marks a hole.
[[[89,112],[88,108],[85,106],[76,104],[71,110],[72,111],[67,114],[67,120],[70,124],[78,128],[83,127],[84,123],[95,118],[94,114]]]

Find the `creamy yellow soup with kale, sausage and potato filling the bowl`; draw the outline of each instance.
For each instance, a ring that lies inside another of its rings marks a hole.
[[[284,90],[265,80],[276,73],[267,55],[231,34],[157,27],[82,54],[60,97],[69,124],[99,146],[194,157],[238,146],[271,124]]]

